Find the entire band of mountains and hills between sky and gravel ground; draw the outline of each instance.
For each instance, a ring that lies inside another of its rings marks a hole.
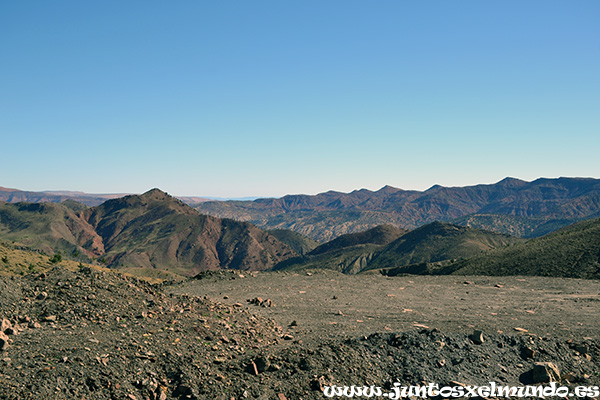
[[[43,252],[46,264],[55,254],[153,276],[156,271],[190,276],[223,268],[328,268],[349,274],[378,270],[388,275],[600,278],[600,219],[594,218],[599,204],[599,181],[585,178],[505,179],[425,192],[385,187],[377,192],[208,202],[195,209],[152,189],[96,206],[72,199],[0,201],[0,241],[9,248]],[[267,231],[205,215],[198,212],[204,205],[243,211],[240,219],[261,216],[263,226],[291,221],[297,230],[303,227],[313,237],[331,240],[318,243],[297,231]],[[385,216],[386,224],[353,232]],[[537,237],[516,237],[528,235]],[[31,268],[24,263],[11,269]]]

